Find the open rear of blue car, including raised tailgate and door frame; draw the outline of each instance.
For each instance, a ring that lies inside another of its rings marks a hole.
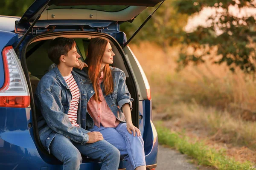
[[[145,8],[155,6],[161,1],[35,0],[20,20],[15,21],[15,33],[20,38],[14,49],[21,60],[31,97],[30,116],[32,117],[32,125],[30,123],[29,130],[35,145],[39,148],[38,153],[45,162],[62,164],[54,156],[49,156],[40,142],[37,128],[38,113],[36,112],[33,96],[38,82],[52,64],[47,54],[49,41],[55,37],[74,38],[81,60],[84,60],[90,39],[105,37],[111,42],[113,52],[116,54],[113,57],[112,66],[125,72],[126,85],[131,97],[134,98],[133,110],[131,111],[133,124],[140,127],[142,134],[145,129],[143,140],[145,142],[146,162],[149,162],[150,166],[154,164],[153,169],[156,167],[158,142],[157,133],[152,122],[150,87],[139,62],[128,48],[129,40],[127,41],[125,33],[119,30],[119,25],[126,21],[132,22]],[[145,25],[145,22],[142,26]],[[89,160],[83,159],[82,163],[87,161]],[[99,164],[93,164],[93,166],[95,166],[93,169],[99,169]],[[125,167],[122,161],[120,166]],[[81,165],[81,168],[83,168],[83,165]]]

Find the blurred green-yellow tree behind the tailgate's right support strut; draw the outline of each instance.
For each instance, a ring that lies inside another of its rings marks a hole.
[[[127,37],[131,37],[156,7],[147,8],[136,17],[133,23],[121,24],[120,30],[127,33]],[[133,42],[149,40],[156,42],[163,48],[179,43],[182,40],[183,27],[186,26],[187,16],[186,14],[177,13],[177,10],[173,8],[173,1],[166,0],[136,35]]]

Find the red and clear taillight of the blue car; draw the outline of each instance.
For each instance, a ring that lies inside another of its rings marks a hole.
[[[12,46],[3,49],[2,57],[5,81],[0,88],[0,107],[26,108],[30,105],[29,89]]]

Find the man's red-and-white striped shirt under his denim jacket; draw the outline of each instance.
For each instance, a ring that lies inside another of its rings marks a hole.
[[[63,77],[63,78],[67,82],[67,85],[70,88],[70,92],[72,95],[72,100],[70,102],[70,109],[67,113],[67,116],[70,119],[72,126],[79,127],[79,125],[76,123],[77,110],[78,110],[78,104],[79,104],[79,99],[80,99],[79,88],[78,88],[78,86],[76,84],[76,80],[74,79],[72,74],[70,74],[69,76]]]

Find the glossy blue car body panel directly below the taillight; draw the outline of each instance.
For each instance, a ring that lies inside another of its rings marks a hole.
[[[40,158],[27,122],[30,108],[0,108],[0,169],[40,169]]]

